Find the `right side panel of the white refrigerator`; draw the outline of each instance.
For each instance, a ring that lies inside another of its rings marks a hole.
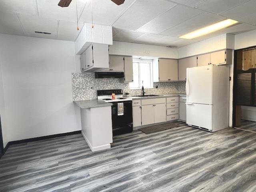
[[[229,66],[214,65],[213,131],[228,127]]]

